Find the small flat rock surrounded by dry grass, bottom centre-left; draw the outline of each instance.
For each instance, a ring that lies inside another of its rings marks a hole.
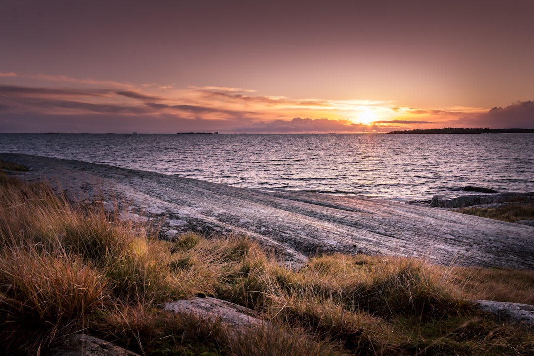
[[[260,314],[255,310],[211,297],[176,300],[176,302],[166,303],[163,310],[192,313],[208,318],[212,322],[219,319],[229,325],[232,330],[237,331],[266,325],[265,321],[259,319]]]

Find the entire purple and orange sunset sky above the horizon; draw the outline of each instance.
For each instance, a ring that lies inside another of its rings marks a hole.
[[[534,128],[534,0],[3,0],[0,132]]]

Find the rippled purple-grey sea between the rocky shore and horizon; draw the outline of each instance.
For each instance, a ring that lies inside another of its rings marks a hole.
[[[0,152],[117,165],[244,188],[395,200],[534,191],[534,134],[0,134]],[[470,193],[473,194],[473,193]]]

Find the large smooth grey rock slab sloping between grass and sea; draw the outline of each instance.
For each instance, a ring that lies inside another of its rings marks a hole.
[[[109,165],[0,154],[26,181],[51,181],[72,199],[105,200],[131,218],[164,219],[167,236],[243,233],[290,263],[326,252],[426,258],[450,265],[534,270],[534,228],[360,196],[235,188]]]

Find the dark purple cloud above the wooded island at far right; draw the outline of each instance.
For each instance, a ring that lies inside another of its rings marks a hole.
[[[459,122],[496,129],[534,129],[534,101],[516,101],[505,108],[494,107],[487,113],[461,117]]]

